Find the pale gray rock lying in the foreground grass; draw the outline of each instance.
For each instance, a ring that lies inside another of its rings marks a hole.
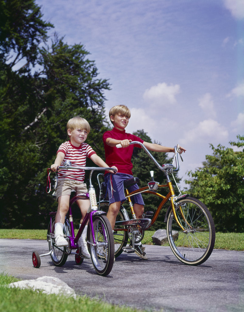
[[[8,287],[19,287],[20,289],[30,288],[46,294],[65,295],[76,298],[75,292],[71,287],[62,280],[59,280],[59,278],[52,276],[42,276],[36,280],[20,280],[9,284]]]

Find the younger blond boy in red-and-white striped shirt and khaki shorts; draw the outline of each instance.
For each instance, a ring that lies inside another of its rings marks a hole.
[[[62,143],[57,151],[57,156],[54,164],[51,165],[52,171],[57,171],[57,168],[64,162],[70,161],[72,166],[86,166],[86,158],[89,157],[99,167],[109,166],[96,154],[90,145],[84,143],[87,139],[87,134],[90,132],[90,125],[86,119],[81,116],[76,116],[69,119],[67,123],[67,133],[69,140]],[[113,166],[116,168],[115,166]],[[117,169],[117,168],[116,168]],[[114,173],[111,171],[111,173]],[[55,243],[57,246],[68,246],[68,241],[63,236],[63,227],[65,216],[69,208],[69,199],[72,190],[75,190],[76,195],[87,193],[87,186],[84,183],[85,170],[69,169],[59,172],[58,170],[58,185],[55,189],[56,198],[58,201],[58,210],[55,218]],[[86,199],[77,200],[82,214],[80,224],[82,223],[87,209],[90,206],[90,201]],[[86,243],[87,225],[82,232],[82,236],[78,241],[82,255],[90,258]]]

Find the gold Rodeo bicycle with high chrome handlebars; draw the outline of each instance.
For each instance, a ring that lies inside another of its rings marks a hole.
[[[161,166],[142,143],[134,141],[130,144],[141,145],[155,165],[164,172],[167,184],[160,184],[154,181],[153,171],[150,172],[151,181],[148,182],[148,185],[139,188],[134,192],[129,192],[129,186],[138,183],[139,179],[132,178],[124,181],[125,197],[129,202],[132,218],[129,217],[128,212],[121,205],[114,228],[115,257],[118,257],[123,251],[127,253],[134,252],[134,244],[143,239],[144,231],[153,226],[162,207],[170,201],[170,206],[167,209],[164,222],[167,223],[167,239],[171,250],[181,262],[187,265],[196,266],[202,264],[209,258],[213,251],[215,243],[215,226],[208,208],[202,202],[196,198],[190,197],[188,194],[182,195],[180,190],[178,196],[174,192],[170,175],[173,176],[173,172],[179,170],[177,153],[179,145],[174,147],[174,159],[176,160],[175,168],[173,164],[168,163]],[[121,146],[119,145],[120,144],[116,147]],[[109,200],[105,196],[106,187],[104,182],[101,183],[101,176],[103,176],[101,173],[97,175],[100,187],[98,207],[99,210],[107,212]],[[169,190],[166,196],[158,193],[158,190],[163,187],[167,187]],[[131,202],[131,197],[139,193],[153,194],[162,199],[157,207],[157,211],[155,213],[151,211],[145,212],[142,219],[136,219],[133,204]],[[152,217],[152,219],[149,217]],[[126,247],[128,241],[130,246]]]

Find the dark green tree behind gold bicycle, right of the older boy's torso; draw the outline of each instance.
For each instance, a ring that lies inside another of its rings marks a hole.
[[[143,130],[138,130],[133,134],[137,135],[139,138],[143,139],[146,142],[153,143],[151,138],[145,133]],[[160,142],[154,142],[157,144],[161,144]],[[163,144],[162,144],[163,145]],[[157,160],[157,162],[162,165],[164,163],[172,163],[173,158],[168,158],[171,154],[166,153],[157,153],[151,152],[153,157]],[[172,156],[174,154],[172,153]],[[134,148],[133,156],[132,156],[132,163],[133,163],[133,175],[134,177],[138,177],[140,182],[138,183],[139,187],[147,186],[147,183],[151,181],[150,171],[154,171],[154,180],[159,182],[160,184],[166,184],[166,177],[164,173],[159,170],[153,161],[148,157],[146,152],[140,148]],[[179,182],[177,178],[177,174],[174,174],[176,181]],[[172,181],[173,182],[173,181]],[[160,188],[158,192],[162,195],[166,195],[168,193],[168,188]],[[175,188],[175,192],[177,194],[177,188]],[[145,203],[144,211],[153,211],[157,210],[159,203],[162,201],[159,197],[151,195],[151,194],[143,194],[143,200]],[[170,203],[169,203],[170,204]],[[153,230],[157,230],[159,228],[166,228],[166,224],[164,223],[165,213],[167,211],[169,205],[165,205],[158,218],[157,221],[153,225]]]

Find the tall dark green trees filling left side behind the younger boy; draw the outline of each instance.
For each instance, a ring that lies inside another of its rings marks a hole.
[[[45,193],[46,169],[67,139],[69,118],[83,115],[89,121],[87,143],[104,158],[103,90],[109,83],[97,78],[84,46],[69,46],[56,35],[45,44],[52,25],[42,21],[34,0],[1,1],[0,12],[0,222],[46,227],[48,212],[57,206]]]

